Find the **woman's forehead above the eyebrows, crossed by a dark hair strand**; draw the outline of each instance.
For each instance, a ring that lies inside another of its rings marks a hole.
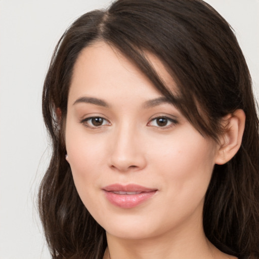
[[[164,84],[171,90],[176,89],[174,80],[162,62],[153,54],[145,53],[145,56]],[[152,88],[156,95],[161,95],[151,80],[131,60],[116,48],[104,42],[96,42],[79,54],[73,68],[69,95],[89,90],[102,94],[101,92],[109,89],[116,91],[121,88],[127,90],[128,94],[138,88],[144,94],[147,87]]]

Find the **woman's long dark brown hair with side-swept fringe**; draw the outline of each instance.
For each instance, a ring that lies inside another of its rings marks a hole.
[[[241,148],[228,163],[214,167],[203,227],[223,252],[259,257],[259,139],[251,79],[231,27],[200,0],[118,0],[107,10],[79,17],[58,42],[42,96],[53,153],[38,195],[52,257],[100,259],[107,246],[105,230],[75,189],[63,130],[73,66],[82,49],[96,41],[132,60],[172,100],[145,57],[147,52],[156,55],[177,82],[178,108],[203,136],[217,141],[221,118],[244,110]]]

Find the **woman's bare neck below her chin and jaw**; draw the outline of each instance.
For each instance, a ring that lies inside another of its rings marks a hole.
[[[145,239],[123,239],[106,233],[105,259],[218,258],[219,252],[205,237],[202,224],[188,231],[175,230]],[[221,257],[224,258],[224,257]]]

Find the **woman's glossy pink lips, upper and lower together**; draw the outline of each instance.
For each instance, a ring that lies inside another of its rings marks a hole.
[[[150,199],[157,189],[146,188],[140,185],[113,184],[103,188],[106,198],[121,208],[133,208]],[[118,194],[114,192],[138,192],[137,194]]]

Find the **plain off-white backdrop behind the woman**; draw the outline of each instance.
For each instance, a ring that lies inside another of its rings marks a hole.
[[[206,2],[236,31],[258,97],[259,1]],[[35,205],[50,154],[41,115],[42,84],[67,26],[109,3],[0,0],[0,259],[50,259]]]

